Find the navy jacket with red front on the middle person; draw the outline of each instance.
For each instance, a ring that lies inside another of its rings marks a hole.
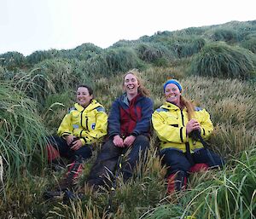
[[[108,136],[126,137],[129,135],[150,134],[153,101],[138,94],[130,102],[126,94],[113,101],[108,118]]]

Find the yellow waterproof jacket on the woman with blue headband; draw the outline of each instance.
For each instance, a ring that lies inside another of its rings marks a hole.
[[[195,107],[194,116],[201,125],[201,136],[207,139],[213,130],[209,113],[205,109]],[[189,116],[186,109],[181,110],[176,105],[167,102],[156,109],[152,115],[152,123],[156,135],[160,139],[160,149],[176,148],[186,152],[186,142],[189,142],[190,153],[203,147],[200,141],[195,141],[186,135],[186,125]]]

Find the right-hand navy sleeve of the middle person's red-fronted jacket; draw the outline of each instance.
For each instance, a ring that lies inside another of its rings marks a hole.
[[[153,113],[153,101],[150,98],[145,98],[142,106],[142,118],[137,122],[136,127],[132,131],[131,135],[141,135],[148,133],[150,130],[150,122]]]

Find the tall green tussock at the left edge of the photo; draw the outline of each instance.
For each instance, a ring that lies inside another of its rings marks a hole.
[[[44,166],[46,130],[35,103],[25,95],[1,83],[0,89],[0,152],[3,158],[5,179],[9,181],[22,173]]]

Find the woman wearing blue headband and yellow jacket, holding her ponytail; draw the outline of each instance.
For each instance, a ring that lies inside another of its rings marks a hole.
[[[177,80],[164,84],[166,102],[152,115],[160,139],[160,156],[167,166],[168,192],[186,186],[190,171],[222,166],[224,161],[208,150],[205,140],[213,130],[209,113],[182,96]]]

